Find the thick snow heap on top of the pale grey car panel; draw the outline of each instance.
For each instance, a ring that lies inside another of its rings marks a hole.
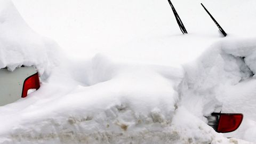
[[[0,31],[0,68],[35,66],[47,75],[57,63],[58,45],[31,30],[9,0],[0,1]]]

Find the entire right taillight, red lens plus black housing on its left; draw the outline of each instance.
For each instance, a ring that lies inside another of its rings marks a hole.
[[[243,121],[243,114],[212,113],[215,124],[210,126],[219,133],[233,132],[238,129]]]

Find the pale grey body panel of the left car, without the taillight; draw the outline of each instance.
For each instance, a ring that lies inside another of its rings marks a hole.
[[[25,79],[36,73],[34,67],[20,67],[14,71],[0,69],[0,106],[20,99]]]

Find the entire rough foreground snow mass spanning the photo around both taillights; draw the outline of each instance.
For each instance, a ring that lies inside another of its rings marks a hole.
[[[227,37],[176,68],[74,60],[0,2],[1,68],[33,65],[45,76],[41,89],[0,107],[0,143],[256,142],[256,38]],[[232,139],[206,124],[219,107],[244,114]]]

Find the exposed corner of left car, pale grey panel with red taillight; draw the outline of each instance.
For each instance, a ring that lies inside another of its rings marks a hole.
[[[40,87],[34,67],[20,67],[13,71],[0,69],[0,106],[25,98]]]

